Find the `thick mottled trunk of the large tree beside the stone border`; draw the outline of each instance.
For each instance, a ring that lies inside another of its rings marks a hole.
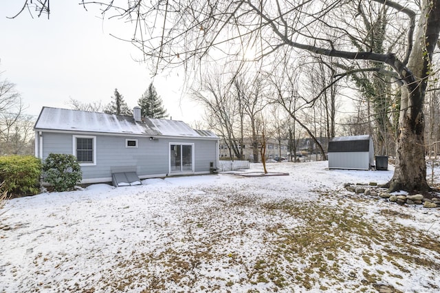
[[[423,102],[439,39],[440,0],[421,1],[421,16],[408,67],[396,66],[404,81],[401,90],[396,163],[388,191],[428,191],[425,162]],[[421,40],[425,40],[424,42]]]

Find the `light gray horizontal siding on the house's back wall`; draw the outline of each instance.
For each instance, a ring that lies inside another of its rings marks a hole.
[[[209,172],[210,162],[217,167],[217,140],[131,137],[129,135],[90,135],[96,137],[96,165],[81,166],[83,180],[110,178],[113,172],[134,171],[139,175],[167,175],[169,143],[193,143],[195,169]],[[137,140],[137,148],[126,148],[126,139]],[[49,153],[73,153],[73,135],[43,132],[43,160]],[[75,155],[75,154],[74,154]]]

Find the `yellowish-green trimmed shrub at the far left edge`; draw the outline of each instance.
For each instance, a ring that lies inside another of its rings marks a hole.
[[[14,195],[39,193],[41,161],[32,155],[0,157],[0,182],[3,191]],[[0,191],[1,193],[1,191]]]

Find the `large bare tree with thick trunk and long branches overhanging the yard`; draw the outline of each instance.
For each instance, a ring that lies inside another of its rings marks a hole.
[[[40,7],[49,11],[45,3]],[[113,1],[101,4],[103,13],[133,23],[130,40],[144,52],[145,58],[154,58],[154,72],[177,65],[190,68],[191,62],[207,61],[217,54],[241,56],[248,47],[254,47],[260,59],[270,59],[281,47],[292,47],[348,61],[349,67],[366,69],[357,61],[384,64],[402,83],[395,173],[389,191],[428,190],[423,102],[434,68],[432,54],[439,39],[440,0],[275,0],[272,6],[267,3],[140,0],[125,2],[122,7],[115,7]],[[386,51],[351,46],[353,39],[365,43],[367,37],[358,29],[360,7],[369,16],[385,9],[390,15],[388,21],[393,22],[393,31],[386,34]],[[402,35],[406,38],[401,39]],[[395,47],[398,42],[403,43]]]

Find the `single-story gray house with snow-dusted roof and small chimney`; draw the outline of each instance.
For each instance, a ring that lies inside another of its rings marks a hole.
[[[140,179],[206,174],[217,169],[219,138],[176,120],[118,116],[43,107],[36,121],[35,155],[76,156],[82,183],[111,182],[115,174]]]

